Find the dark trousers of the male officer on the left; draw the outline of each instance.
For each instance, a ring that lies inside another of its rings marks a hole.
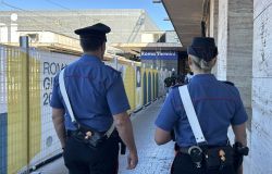
[[[63,152],[70,174],[118,174],[119,142],[110,137],[94,150],[73,137],[67,137]]]

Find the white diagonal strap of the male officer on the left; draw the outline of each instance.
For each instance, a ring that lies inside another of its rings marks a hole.
[[[73,123],[76,123],[75,115],[74,115],[74,112],[72,110],[70,99],[69,99],[69,96],[67,96],[67,91],[66,91],[66,88],[65,88],[65,84],[64,84],[64,71],[65,71],[65,69],[63,69],[60,72],[60,75],[59,75],[60,90],[61,90],[61,95],[63,97],[63,100],[65,102],[67,112],[69,112],[69,114],[71,116],[71,120],[72,120]],[[111,136],[111,134],[113,133],[113,130],[114,130],[114,123],[112,123],[111,127],[108,129],[108,132],[104,135],[109,138]]]

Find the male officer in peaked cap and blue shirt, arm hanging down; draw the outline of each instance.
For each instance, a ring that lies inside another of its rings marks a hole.
[[[75,30],[81,37],[84,55],[64,69],[63,79],[76,124],[72,123],[65,95],[60,88],[61,77],[57,75],[54,78],[50,103],[52,120],[71,174],[118,173],[118,136],[115,133],[107,138],[103,136],[113,123],[129,150],[127,169],[136,167],[138,162],[121,73],[102,62],[106,34],[110,30],[101,23]],[[90,144],[98,144],[91,137],[95,135],[102,135],[98,138],[101,141],[98,147]]]

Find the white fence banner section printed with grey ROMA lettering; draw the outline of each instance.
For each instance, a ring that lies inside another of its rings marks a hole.
[[[55,149],[60,148],[59,139],[55,136],[52,121],[50,119],[54,76],[67,64],[75,61],[77,57],[65,55],[60,53],[50,53],[38,51],[34,52],[40,62],[40,112],[41,112],[41,149],[38,156],[33,159],[33,163],[37,163],[40,158],[48,158],[50,154],[59,153]]]

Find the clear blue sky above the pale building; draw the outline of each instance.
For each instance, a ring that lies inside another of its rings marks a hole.
[[[8,7],[8,3],[11,7]],[[0,0],[1,10],[145,9],[162,30],[173,30],[162,3],[152,0]]]

